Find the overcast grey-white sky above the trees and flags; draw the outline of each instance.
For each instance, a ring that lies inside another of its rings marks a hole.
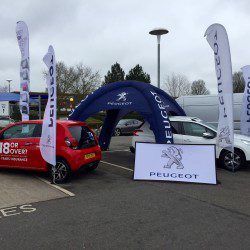
[[[225,26],[233,71],[250,64],[249,0],[1,0],[0,84],[13,79],[19,90],[20,51],[16,22],[30,33],[31,90],[44,91],[42,61],[54,46],[57,61],[82,62],[103,77],[116,61],[127,73],[136,64],[156,85],[156,38],[148,32],[165,27],[161,41],[161,82],[172,72],[192,82],[205,80],[216,93],[213,52],[204,33],[212,23]]]

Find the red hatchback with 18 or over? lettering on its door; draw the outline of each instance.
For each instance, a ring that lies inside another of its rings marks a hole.
[[[41,156],[42,120],[17,122],[0,131],[0,167],[50,171]],[[94,132],[84,123],[57,120],[57,164],[55,181],[68,180],[80,168],[97,168],[101,149]]]

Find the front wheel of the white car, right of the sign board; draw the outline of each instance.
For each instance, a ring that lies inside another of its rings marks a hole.
[[[224,150],[220,155],[220,164],[230,171],[237,171],[245,164],[245,155],[238,149],[232,152]]]

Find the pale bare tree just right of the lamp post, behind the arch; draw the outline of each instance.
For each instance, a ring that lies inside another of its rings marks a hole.
[[[190,83],[185,75],[172,73],[163,84],[173,98],[190,94]]]

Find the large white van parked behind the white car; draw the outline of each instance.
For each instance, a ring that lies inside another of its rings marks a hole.
[[[234,129],[236,132],[240,131],[242,98],[243,93],[233,95]],[[217,95],[181,96],[176,101],[184,109],[187,116],[198,117],[217,127],[219,119],[219,100]]]

